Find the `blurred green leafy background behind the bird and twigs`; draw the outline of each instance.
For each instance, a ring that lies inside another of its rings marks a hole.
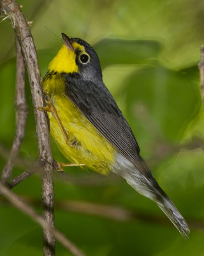
[[[55,225],[89,256],[204,255],[204,118],[198,61],[203,0],[22,0],[33,20],[41,76],[62,44],[61,32],[98,52],[103,79],[128,119],[154,177],[191,228],[185,240],[163,212],[124,180],[91,170],[55,173]],[[0,167],[15,134],[15,40],[0,24]],[[37,157],[31,93],[29,118],[13,177]],[[52,141],[55,159],[66,162]],[[38,175],[13,189],[41,212]],[[0,198],[0,254],[42,255],[41,228]],[[56,255],[70,255],[56,244]]]

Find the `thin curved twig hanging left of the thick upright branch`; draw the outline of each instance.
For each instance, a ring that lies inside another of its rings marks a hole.
[[[6,183],[10,179],[15,159],[18,156],[20,145],[25,135],[25,124],[28,115],[28,106],[25,100],[25,64],[20,44],[16,37],[17,74],[15,85],[16,131],[10,156],[1,173],[1,182]]]

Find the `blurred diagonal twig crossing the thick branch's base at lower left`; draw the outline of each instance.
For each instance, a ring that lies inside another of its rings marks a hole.
[[[51,226],[48,223],[48,221],[44,220],[36,211],[34,211],[34,209],[31,206],[25,204],[25,202],[22,199],[20,199],[19,196],[17,196],[15,193],[13,193],[8,188],[6,188],[6,186],[1,184],[1,182],[0,182],[0,189],[4,193],[6,198],[8,198],[8,200],[11,202],[11,204],[15,205],[15,207],[20,209],[20,211],[29,215],[36,223],[41,225],[41,227],[43,227],[44,230],[49,230],[49,233],[54,234],[56,239],[62,245],[64,245],[64,247],[66,247],[73,255],[84,256],[84,253],[82,253],[75,246],[75,244],[71,243],[71,241],[69,241],[69,239],[67,239],[61,232],[59,232],[59,230]]]

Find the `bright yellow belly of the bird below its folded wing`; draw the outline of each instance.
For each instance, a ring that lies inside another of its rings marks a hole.
[[[50,133],[62,154],[74,163],[85,164],[96,172],[108,174],[117,154],[115,148],[99,134],[66,95],[52,94],[52,101],[69,138],[77,140],[75,147],[70,147],[55,116],[48,112]]]

